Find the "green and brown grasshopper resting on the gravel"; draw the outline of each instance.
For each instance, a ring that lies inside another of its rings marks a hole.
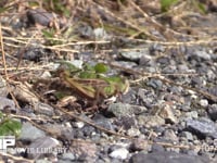
[[[97,66],[99,67],[99,65]],[[102,64],[101,66],[104,65]],[[60,77],[81,98],[90,101],[99,102],[113,96],[125,93],[128,90],[127,80],[117,76],[106,77],[99,72],[90,67],[80,72],[78,70],[62,70]]]

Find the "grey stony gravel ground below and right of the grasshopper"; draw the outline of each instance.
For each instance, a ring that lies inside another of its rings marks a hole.
[[[215,14],[210,16],[217,20]],[[203,26],[203,23],[195,25]],[[110,37],[102,28],[81,32]],[[16,148],[21,150],[10,149],[8,155],[1,155],[2,162],[217,162],[216,41],[199,45],[194,40],[195,43],[173,48],[163,42],[135,43],[126,38],[118,41],[132,43],[128,51],[114,49],[110,52],[112,64],[126,67],[122,74],[130,82],[129,90],[91,114],[59,110],[33,96],[24,100],[16,96],[21,90],[14,87],[15,97],[22,101],[17,109],[5,80],[0,78],[0,110],[17,115],[22,122],[21,135],[16,138]],[[52,54],[31,46],[26,48],[23,59],[37,62]],[[91,55],[93,53],[88,50],[80,51],[76,62],[89,61]],[[9,55],[7,61],[13,62]],[[118,71],[117,66],[111,67]]]

